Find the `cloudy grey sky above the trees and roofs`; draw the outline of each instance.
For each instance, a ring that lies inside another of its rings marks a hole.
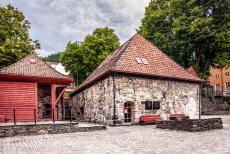
[[[21,10],[31,23],[39,55],[63,51],[69,41],[83,41],[95,28],[108,26],[123,43],[136,33],[150,0],[0,0]]]

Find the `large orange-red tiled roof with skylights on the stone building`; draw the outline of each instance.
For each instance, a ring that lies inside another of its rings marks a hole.
[[[203,82],[202,79],[188,73],[139,33],[112,52],[74,93],[110,72]]]

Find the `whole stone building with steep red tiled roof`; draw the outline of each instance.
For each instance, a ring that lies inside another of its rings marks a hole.
[[[199,118],[202,82],[137,33],[71,94],[73,115],[102,123],[136,123],[143,114]]]

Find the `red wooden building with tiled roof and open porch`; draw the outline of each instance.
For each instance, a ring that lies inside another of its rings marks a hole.
[[[73,78],[65,76],[35,53],[0,69],[0,122],[59,120],[63,94]]]

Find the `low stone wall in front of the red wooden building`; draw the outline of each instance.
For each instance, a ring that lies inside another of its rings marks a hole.
[[[78,127],[78,123],[0,126],[0,138],[10,136],[59,134],[105,130],[106,126]]]

